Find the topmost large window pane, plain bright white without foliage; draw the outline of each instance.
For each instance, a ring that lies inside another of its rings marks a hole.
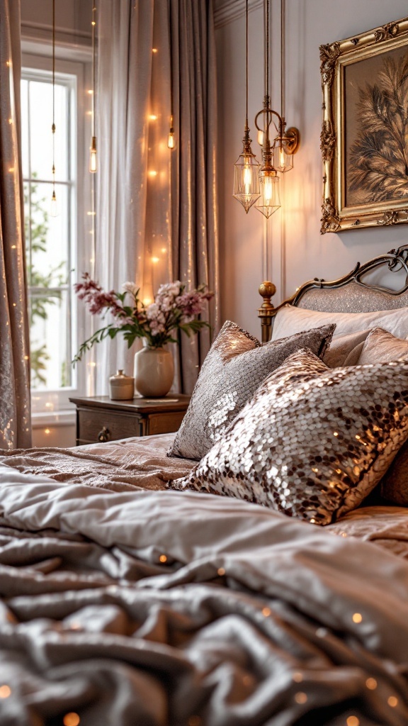
[[[52,179],[52,83],[29,81],[31,175]],[[55,84],[55,179],[68,180],[67,86]]]

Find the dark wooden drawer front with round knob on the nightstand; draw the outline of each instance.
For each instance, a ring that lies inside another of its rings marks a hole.
[[[78,408],[78,443],[115,441],[128,436],[142,436],[141,417],[90,408]]]

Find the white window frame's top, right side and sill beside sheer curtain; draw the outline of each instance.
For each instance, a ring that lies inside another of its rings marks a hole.
[[[24,41],[22,45],[22,78],[28,77],[33,80],[41,80],[44,78],[44,71],[48,76],[51,69],[49,46],[33,44],[33,42],[25,44]],[[62,49],[62,55],[64,55],[63,51],[64,49]],[[70,231],[70,259],[68,265],[68,286],[71,289],[72,301],[70,307],[70,338],[72,352],[75,354],[81,340],[90,334],[89,320],[85,317],[83,306],[78,304],[78,299],[75,295],[72,297],[72,290],[74,283],[81,277],[81,271],[89,269],[89,265],[94,258],[94,217],[91,209],[94,180],[90,179],[91,174],[88,171],[89,139],[91,136],[91,116],[89,115],[91,96],[86,91],[90,87],[91,80],[91,52],[88,52],[88,49],[81,49],[80,60],[72,60],[73,54],[73,49],[69,51],[65,49],[65,57],[56,58],[55,70],[61,76],[74,76],[75,81],[73,81],[72,85],[76,86],[76,107],[74,109],[76,119],[71,125],[70,137],[71,158],[75,159],[76,163],[73,166],[76,168],[71,171],[68,182],[71,205],[70,224],[73,225]],[[61,56],[61,51],[59,56]],[[71,92],[73,92],[73,89],[71,89]],[[81,188],[79,188],[80,184]],[[69,398],[83,395],[87,388],[86,378],[84,367],[77,366],[73,371],[71,386],[46,391],[33,390],[31,392],[31,407],[34,417],[41,417],[42,420],[44,414],[46,414],[49,417],[49,423],[52,423],[52,419],[58,416],[58,412],[69,409],[74,410],[75,407],[70,403]],[[87,391],[87,393],[92,392]]]

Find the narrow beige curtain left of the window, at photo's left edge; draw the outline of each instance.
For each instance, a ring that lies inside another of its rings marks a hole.
[[[20,157],[20,0],[0,0],[0,448],[31,445]]]

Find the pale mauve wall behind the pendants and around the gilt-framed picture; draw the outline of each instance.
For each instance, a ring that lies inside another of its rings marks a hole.
[[[255,7],[254,7],[255,6]],[[266,271],[266,222],[252,209],[248,215],[232,197],[233,165],[242,150],[245,121],[245,4],[216,2],[216,45],[219,81],[220,242],[223,318],[258,335],[258,284],[268,276],[277,285],[277,304],[312,277],[327,280],[349,272],[356,261],[408,242],[407,225],[320,235],[322,160],[319,135],[322,90],[319,45],[338,41],[407,15],[406,0],[286,0],[286,118],[301,131],[293,171],[283,175],[282,208],[269,220],[271,264]],[[256,139],[254,116],[262,107],[263,9],[250,3],[249,123]],[[272,0],[272,107],[280,110],[280,2]],[[240,17],[234,17],[234,15]],[[253,151],[261,154],[256,142]]]

